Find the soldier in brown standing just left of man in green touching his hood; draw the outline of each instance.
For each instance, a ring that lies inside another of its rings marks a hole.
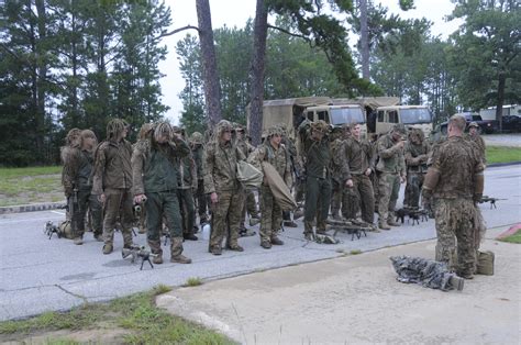
[[[104,205],[103,254],[114,248],[114,229],[121,221],[123,246],[132,242],[132,145],[125,140],[129,129],[121,119],[107,124],[107,140],[98,145],[95,154],[92,193]]]

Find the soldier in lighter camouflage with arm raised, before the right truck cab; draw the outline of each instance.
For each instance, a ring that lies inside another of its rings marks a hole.
[[[396,201],[400,191],[400,183],[406,181],[406,162],[403,158],[406,129],[396,124],[392,130],[378,138],[376,143],[379,160],[378,171],[378,227],[390,230],[400,226],[395,220]]]

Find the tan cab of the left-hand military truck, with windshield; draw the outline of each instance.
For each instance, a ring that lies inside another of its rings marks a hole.
[[[339,104],[339,105],[318,105],[306,109],[306,119],[309,121],[323,120],[333,126],[343,126],[344,124],[358,123],[361,125],[361,135],[367,135],[367,125],[364,110],[359,104]]]

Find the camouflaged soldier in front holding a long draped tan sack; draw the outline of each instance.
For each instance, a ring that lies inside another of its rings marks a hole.
[[[286,146],[280,143],[282,131],[278,126],[268,129],[264,144],[250,156],[248,160],[259,170],[263,162],[275,167],[288,188],[291,187],[291,162]],[[278,232],[282,224],[282,210],[277,203],[266,179],[260,186],[260,246],[265,249],[271,245],[282,245]]]

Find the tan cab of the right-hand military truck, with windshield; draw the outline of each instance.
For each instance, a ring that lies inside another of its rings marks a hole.
[[[428,137],[432,131],[432,114],[425,105],[391,105],[376,109],[376,134],[389,132],[397,123],[402,123],[406,127],[420,129]]]

